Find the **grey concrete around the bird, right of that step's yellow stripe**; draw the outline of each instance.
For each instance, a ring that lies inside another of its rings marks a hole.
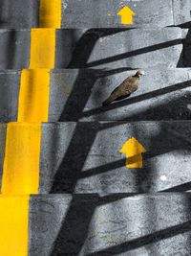
[[[137,71],[54,70],[50,121],[185,120],[191,118],[191,69],[145,69],[138,91],[113,105],[102,102]],[[62,85],[63,84],[63,85]]]

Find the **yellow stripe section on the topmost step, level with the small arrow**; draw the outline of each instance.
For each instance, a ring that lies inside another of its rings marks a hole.
[[[40,0],[39,27],[61,28],[62,1]]]

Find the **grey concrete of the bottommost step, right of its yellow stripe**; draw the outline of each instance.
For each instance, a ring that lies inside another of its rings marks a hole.
[[[33,196],[30,256],[191,254],[190,194]]]

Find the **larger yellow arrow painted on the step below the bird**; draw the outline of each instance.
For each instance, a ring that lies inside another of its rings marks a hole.
[[[142,153],[146,150],[137,139],[131,138],[126,141],[119,152],[126,154],[127,168],[142,168]]]

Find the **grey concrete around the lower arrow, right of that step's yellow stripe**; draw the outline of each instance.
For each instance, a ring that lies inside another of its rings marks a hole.
[[[39,193],[189,191],[190,136],[191,122],[43,124]],[[127,169],[119,153],[132,137],[147,151],[142,169]]]

